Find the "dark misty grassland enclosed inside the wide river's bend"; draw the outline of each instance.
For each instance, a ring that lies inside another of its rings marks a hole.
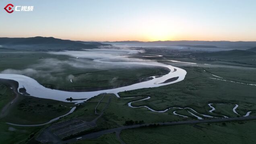
[[[68,73],[69,72],[69,73]],[[58,84],[46,84],[43,86],[68,91],[96,91],[102,89],[117,88],[141,82],[142,78],[167,74],[169,71],[164,68],[121,68],[113,70],[92,70],[72,73],[69,70],[65,74],[58,74],[60,77],[67,77],[72,74],[72,82],[69,80],[58,81]],[[40,83],[40,80],[39,80]]]

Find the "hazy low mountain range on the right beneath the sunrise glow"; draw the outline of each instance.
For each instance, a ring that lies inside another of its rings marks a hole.
[[[140,41],[116,41],[116,42],[102,42],[105,44],[128,44],[137,46],[199,46],[199,47],[255,47],[256,42],[244,42],[244,41],[190,41],[190,40],[179,40],[179,41],[153,41],[153,42],[140,42]]]

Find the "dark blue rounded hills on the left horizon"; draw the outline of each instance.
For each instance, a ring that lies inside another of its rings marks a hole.
[[[0,45],[4,48],[18,50],[81,50],[98,48],[98,46],[108,46],[110,44],[37,36],[31,38],[0,38]]]

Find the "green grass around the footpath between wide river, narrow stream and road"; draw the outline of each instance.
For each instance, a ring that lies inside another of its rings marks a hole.
[[[114,94],[106,94],[102,104],[106,104],[109,98],[111,97],[111,102],[107,109],[103,112],[101,118],[97,120],[97,126],[90,129],[94,131],[105,130],[108,128],[116,128],[123,126],[127,120],[135,121],[144,121],[145,123],[154,123],[154,122],[169,122],[169,121],[178,121],[186,120],[181,119],[179,116],[174,116],[171,114],[171,110],[165,113],[151,112],[145,108],[130,108],[128,107],[128,102],[142,99],[143,97],[136,98],[117,98]],[[68,116],[58,120],[65,121],[72,118],[79,118],[86,121],[91,121],[96,118],[98,115],[95,115],[94,108],[97,105],[98,101],[101,99],[101,95],[95,96],[89,99],[84,104],[81,104],[77,109]],[[102,108],[99,108],[99,112]],[[87,131],[90,131],[87,130]]]

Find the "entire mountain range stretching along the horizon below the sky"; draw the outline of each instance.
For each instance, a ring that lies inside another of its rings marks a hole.
[[[81,50],[98,48],[99,46],[110,46],[111,44],[133,45],[133,46],[183,46],[196,48],[230,48],[249,49],[256,52],[256,42],[231,42],[231,41],[116,41],[116,42],[83,42],[62,40],[53,37],[31,37],[31,38],[0,38],[0,47],[18,50]]]

